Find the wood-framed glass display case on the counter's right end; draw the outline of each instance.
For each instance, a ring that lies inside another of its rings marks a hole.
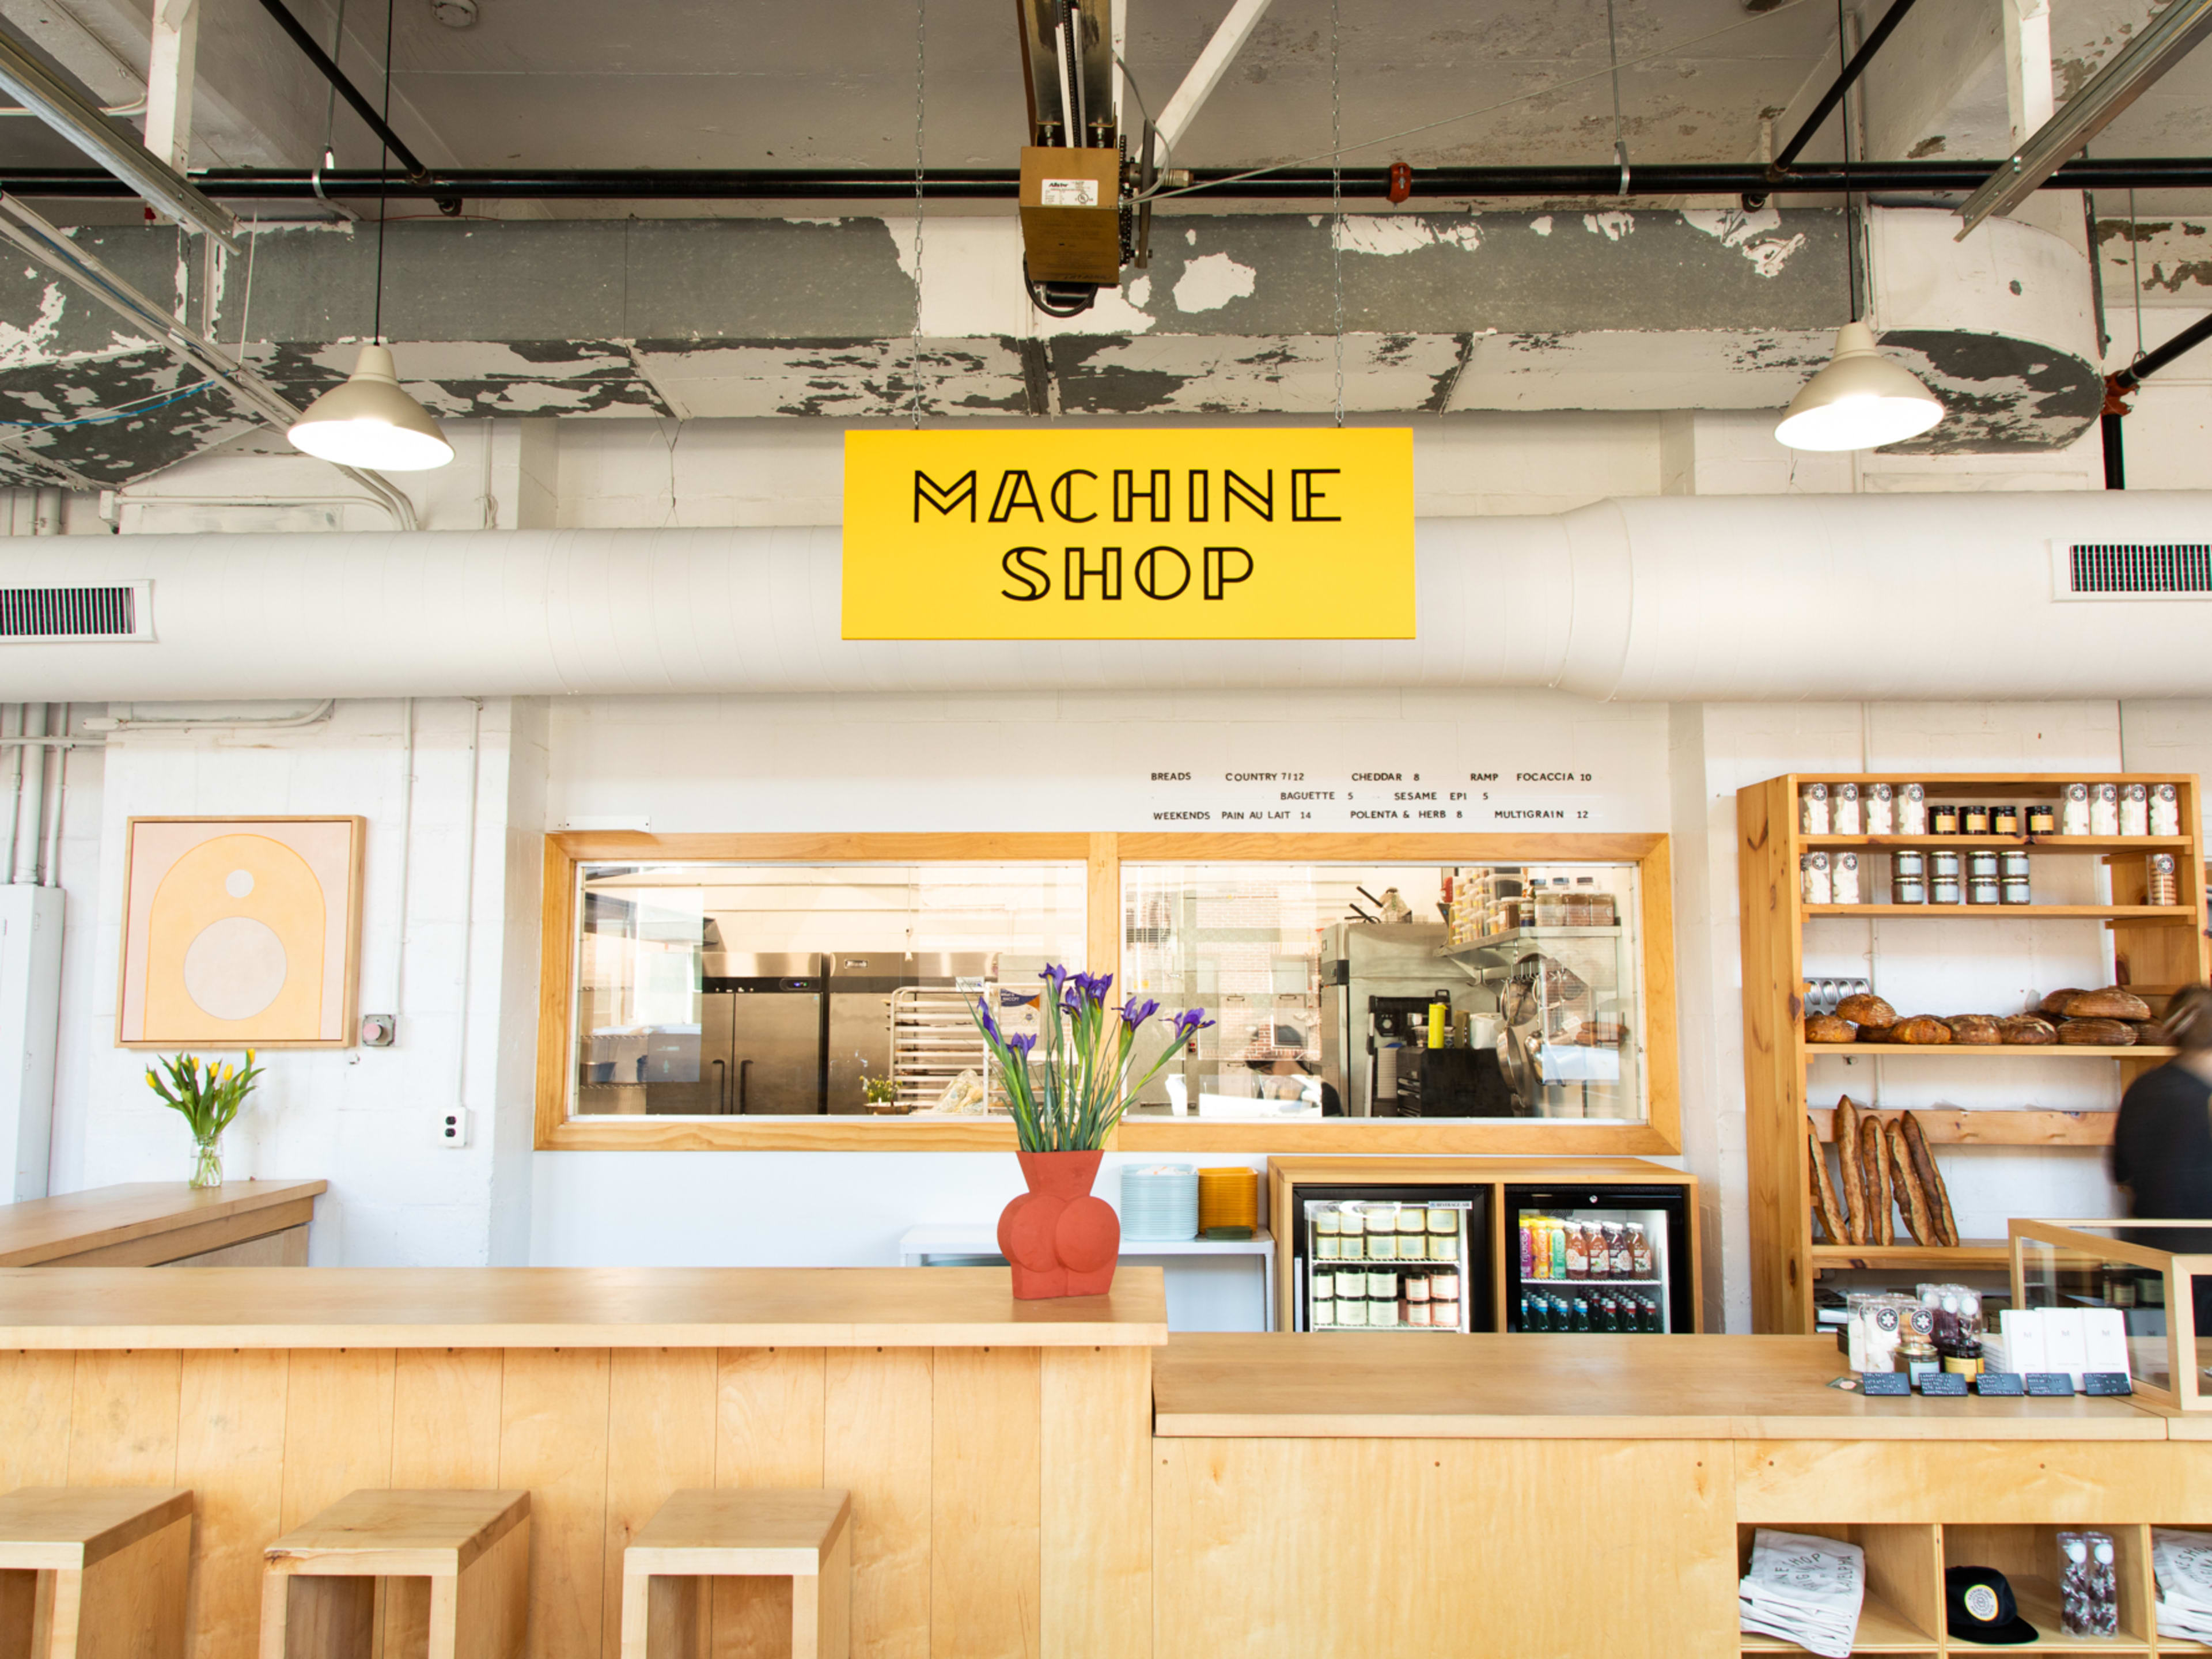
[[[2013,1307],[2115,1310],[2132,1387],[2181,1411],[2212,1411],[2203,1396],[2212,1347],[2199,1336],[2212,1329],[2212,1223],[2013,1221],[2011,1243]]]

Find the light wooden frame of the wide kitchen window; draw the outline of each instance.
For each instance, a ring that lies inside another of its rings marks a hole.
[[[1214,1124],[1128,1119],[1121,1152],[1458,1152],[1619,1157],[1681,1152],[1674,1037],[1674,880],[1661,834],[551,834],[544,843],[538,978],[538,1135],[542,1152],[984,1152],[1013,1150],[1013,1124],[905,1124],[883,1117],[653,1119],[568,1117],[575,872],[582,863],[1082,863],[1086,967],[1121,971],[1121,863],[1632,863],[1644,936],[1641,1124],[1573,1119],[1327,1119]]]

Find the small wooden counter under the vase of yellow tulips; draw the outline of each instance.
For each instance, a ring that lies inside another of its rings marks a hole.
[[[0,1206],[0,1267],[305,1267],[327,1181],[137,1181]]]

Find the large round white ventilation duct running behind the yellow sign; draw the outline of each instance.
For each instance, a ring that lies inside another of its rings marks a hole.
[[[836,529],[20,538],[0,588],[153,582],[155,639],[0,641],[0,701],[1557,686],[1635,701],[2212,692],[2212,491],[1701,495],[1420,524],[1405,641],[847,644]],[[2183,549],[2121,555],[2112,549]],[[2185,549],[2199,553],[2185,553]],[[2130,564],[2132,560],[2132,564]]]

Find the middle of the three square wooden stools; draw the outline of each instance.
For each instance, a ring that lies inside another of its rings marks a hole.
[[[374,1659],[378,1579],[429,1579],[427,1659],[515,1659],[531,1610],[531,1495],[347,1493],[268,1546],[261,1659]],[[387,1608],[396,1621],[418,1624]]]

